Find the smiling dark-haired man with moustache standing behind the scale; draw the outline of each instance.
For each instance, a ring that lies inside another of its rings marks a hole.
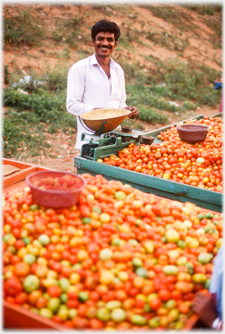
[[[67,80],[67,111],[77,118],[75,148],[81,150],[81,133],[92,133],[83,127],[78,116],[100,108],[131,110],[130,118],[138,116],[137,107],[126,105],[124,71],[110,58],[117,47],[120,30],[115,22],[102,19],[91,29],[94,55],[76,62]]]

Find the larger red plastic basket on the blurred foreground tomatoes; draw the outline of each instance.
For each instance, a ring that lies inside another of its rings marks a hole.
[[[57,182],[60,177],[67,175],[74,181],[74,185],[70,188],[67,186],[67,190],[57,189],[43,189],[37,186],[37,183],[41,183],[44,180],[50,180],[51,182]],[[26,183],[31,188],[31,195],[33,201],[39,205],[47,206],[49,208],[63,208],[76,204],[81,190],[85,187],[86,182],[83,177],[66,172],[57,171],[40,171],[34,172],[26,177]]]

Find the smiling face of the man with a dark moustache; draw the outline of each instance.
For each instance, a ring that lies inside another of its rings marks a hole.
[[[104,31],[101,31],[101,33],[96,35],[95,39],[92,39],[92,44],[95,52],[100,57],[109,57],[115,47],[117,47],[114,34]]]

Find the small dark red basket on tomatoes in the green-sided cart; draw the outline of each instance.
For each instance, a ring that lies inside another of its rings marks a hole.
[[[210,128],[206,125],[184,124],[177,127],[179,137],[182,141],[199,143],[206,139]]]

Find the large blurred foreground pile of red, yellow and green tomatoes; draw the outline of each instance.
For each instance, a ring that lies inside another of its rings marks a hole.
[[[83,174],[78,204],[4,197],[3,295],[67,328],[181,329],[208,293],[222,214]]]

